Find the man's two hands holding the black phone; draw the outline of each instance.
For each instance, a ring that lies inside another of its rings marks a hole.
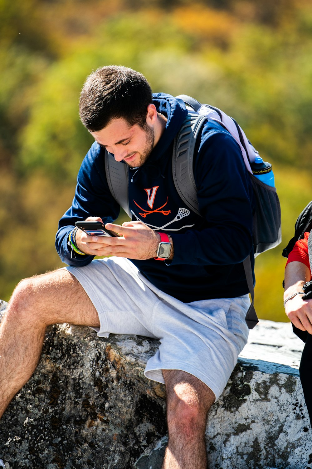
[[[102,221],[102,219],[89,217],[86,221]],[[106,223],[105,227],[120,236],[118,238],[90,236],[78,230],[76,233],[78,248],[93,256],[117,256],[141,260],[156,257],[160,235],[142,221],[127,221],[122,226]],[[172,257],[173,248],[170,259]]]

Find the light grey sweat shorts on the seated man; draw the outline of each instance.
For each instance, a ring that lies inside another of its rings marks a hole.
[[[182,303],[152,285],[122,257],[65,269],[94,304],[99,337],[137,334],[159,340],[156,354],[146,364],[146,378],[164,383],[161,370],[186,371],[218,399],[247,342],[248,295]]]

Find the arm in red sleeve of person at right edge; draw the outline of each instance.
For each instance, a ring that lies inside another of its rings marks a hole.
[[[296,242],[285,267],[285,312],[290,321],[301,331],[312,334],[312,300],[304,300],[303,286],[311,280],[307,236]]]

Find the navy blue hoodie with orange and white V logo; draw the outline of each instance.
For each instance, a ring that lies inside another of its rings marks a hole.
[[[131,262],[156,287],[185,303],[244,295],[248,287],[242,262],[252,252],[254,203],[239,145],[218,123],[204,125],[194,155],[200,217],[185,207],[172,175],[173,141],[187,115],[185,105],[164,93],[154,94],[153,103],[167,125],[145,164],[128,169],[130,209],[132,220],[172,236],[174,258]],[[181,212],[184,216],[177,217]],[[79,254],[71,258],[67,241],[75,221],[98,216],[107,223],[118,214],[106,180],[104,150],[94,142],[81,164],[73,204],[59,221],[56,248],[62,261],[83,266],[93,259]],[[254,266],[252,254],[251,262]]]

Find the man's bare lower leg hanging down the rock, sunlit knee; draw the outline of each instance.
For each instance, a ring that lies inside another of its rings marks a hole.
[[[163,370],[169,441],[162,469],[206,469],[205,428],[215,395],[194,376]]]

